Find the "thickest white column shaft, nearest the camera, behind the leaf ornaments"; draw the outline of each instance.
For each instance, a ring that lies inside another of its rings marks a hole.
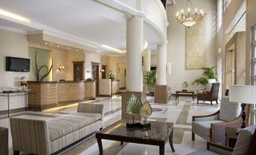
[[[126,90],[143,91],[143,18],[132,17],[126,21]]]

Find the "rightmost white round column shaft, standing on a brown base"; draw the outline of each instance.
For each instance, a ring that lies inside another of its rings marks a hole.
[[[166,44],[157,45],[157,79],[156,85],[166,85]]]

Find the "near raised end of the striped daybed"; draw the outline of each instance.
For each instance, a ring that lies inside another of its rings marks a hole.
[[[50,154],[50,135],[45,120],[11,117],[13,149],[33,154]]]

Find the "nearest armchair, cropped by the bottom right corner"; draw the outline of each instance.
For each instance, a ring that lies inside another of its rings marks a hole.
[[[239,136],[234,148],[224,147],[223,145],[207,142],[207,150],[196,150],[187,155],[255,155],[254,143],[256,126],[249,126],[239,132]]]

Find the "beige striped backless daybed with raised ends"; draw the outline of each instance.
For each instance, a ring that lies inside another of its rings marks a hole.
[[[14,155],[48,155],[102,128],[103,105],[79,103],[76,114],[48,121],[11,117],[10,124]]]

